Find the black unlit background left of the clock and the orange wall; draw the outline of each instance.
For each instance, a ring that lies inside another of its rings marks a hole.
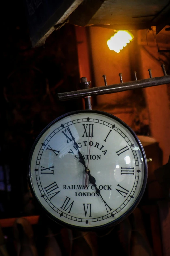
[[[38,213],[27,184],[29,152],[43,128],[82,109],[82,102],[57,100],[57,93],[76,90],[79,84],[74,26],[66,24],[44,46],[32,48],[22,2],[9,1],[4,10],[0,218],[9,218]]]

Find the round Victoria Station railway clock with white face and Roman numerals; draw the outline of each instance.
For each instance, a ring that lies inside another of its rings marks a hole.
[[[137,206],[146,186],[146,157],[120,119],[75,111],[54,120],[36,139],[29,179],[50,217],[93,230],[120,222]]]

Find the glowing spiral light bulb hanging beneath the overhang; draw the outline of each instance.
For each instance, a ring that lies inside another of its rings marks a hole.
[[[114,34],[108,41],[107,45],[110,50],[115,52],[120,52],[129,43],[132,41],[134,36],[127,30],[119,30],[117,33]]]

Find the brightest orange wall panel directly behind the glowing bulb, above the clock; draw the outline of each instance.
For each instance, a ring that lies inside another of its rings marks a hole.
[[[110,51],[107,40],[114,35],[114,31],[100,27],[90,27],[90,40],[92,48],[92,60],[95,77],[95,85],[104,86],[103,75],[106,75],[107,84],[120,83],[119,73],[123,75],[123,81],[131,80],[129,68],[129,51],[125,47],[120,53]],[[122,101],[131,91],[116,94],[97,96],[97,104],[116,104]]]

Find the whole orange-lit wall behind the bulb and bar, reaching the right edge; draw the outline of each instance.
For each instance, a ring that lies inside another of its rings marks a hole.
[[[102,75],[104,74],[107,76],[106,79],[108,85],[120,83],[118,76],[120,72],[123,74],[124,82],[130,81],[132,79],[132,56],[134,59],[133,69],[137,68],[138,77],[140,77],[140,79],[149,78],[149,68],[152,69],[153,77],[163,75],[163,71],[160,67],[161,63],[153,59],[153,57],[144,50],[143,46],[137,45],[137,43],[130,43],[131,45],[127,45],[120,51],[120,53],[115,53],[114,51],[110,51],[107,46],[107,40],[114,34],[113,30],[99,27],[90,27],[89,29],[95,79],[95,84],[92,86],[103,86],[104,81]],[[137,40],[137,33],[135,33],[135,37]],[[157,47],[145,46],[145,48],[158,58],[159,54],[157,53]],[[165,164],[167,163],[170,154],[170,102],[167,94],[167,85],[145,88],[142,90],[144,92],[143,100],[147,103],[147,107],[144,107],[143,109],[146,116],[144,118],[146,120],[144,121],[146,121],[146,123],[149,122],[151,129],[150,135],[159,142],[159,146],[163,151],[163,164]],[[138,91],[139,94],[141,92],[142,91]],[[132,105],[128,108],[127,100],[134,99],[134,95],[133,91],[126,91],[97,96],[96,109],[110,112],[118,116],[133,128],[135,116],[140,115],[140,106],[138,106],[139,103],[136,102],[136,105],[134,105],[136,106],[136,110]],[[120,108],[120,103],[123,102],[125,103],[124,108]],[[116,109],[117,105],[118,108]],[[109,108],[107,109],[108,106]]]

